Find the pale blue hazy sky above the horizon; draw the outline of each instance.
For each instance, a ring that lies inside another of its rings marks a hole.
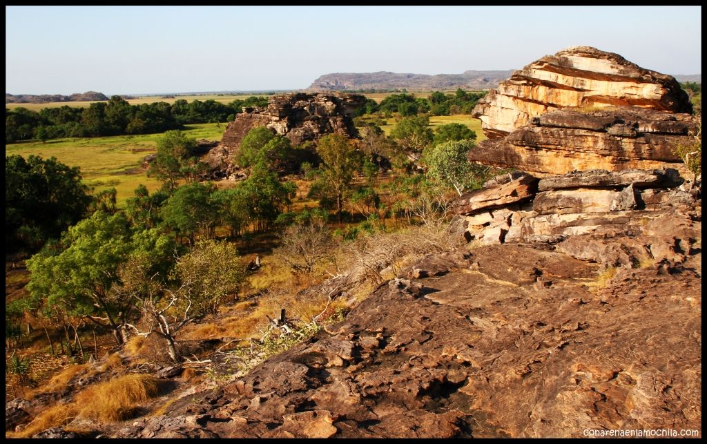
[[[701,74],[700,6],[6,6],[5,91],[296,90],[323,74],[520,69],[574,45]]]

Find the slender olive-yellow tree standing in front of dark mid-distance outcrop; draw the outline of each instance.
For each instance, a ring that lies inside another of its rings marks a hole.
[[[354,175],[361,168],[361,154],[341,134],[327,134],[317,144],[317,154],[322,158],[321,180],[325,182],[337,204],[337,219],[341,222],[344,193],[354,182]]]

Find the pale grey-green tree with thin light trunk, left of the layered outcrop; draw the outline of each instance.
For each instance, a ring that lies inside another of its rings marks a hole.
[[[454,187],[461,196],[472,173],[472,164],[467,160],[467,153],[472,148],[474,142],[470,140],[448,141],[428,148],[425,152],[428,176]]]

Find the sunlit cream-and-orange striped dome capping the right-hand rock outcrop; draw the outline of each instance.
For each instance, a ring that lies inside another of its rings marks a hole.
[[[489,139],[498,139],[552,110],[573,107],[643,107],[691,112],[672,77],[643,69],[619,54],[569,47],[515,71],[474,108]]]

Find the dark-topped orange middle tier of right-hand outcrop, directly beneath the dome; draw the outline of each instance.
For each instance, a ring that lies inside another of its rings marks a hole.
[[[556,110],[531,119],[503,139],[487,139],[469,151],[469,160],[521,168],[535,175],[573,170],[686,169],[674,154],[693,144],[696,117],[638,107],[597,112]]]

